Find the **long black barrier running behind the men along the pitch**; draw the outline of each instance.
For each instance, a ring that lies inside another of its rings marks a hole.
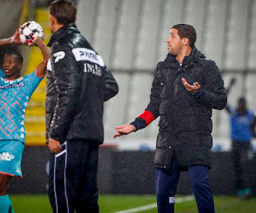
[[[154,152],[119,152],[101,147],[99,153],[98,187],[100,193],[154,194]],[[48,147],[25,147],[22,158],[23,178],[12,178],[10,193],[47,193]],[[251,161],[250,177],[256,196],[256,156]],[[209,179],[214,194],[236,195],[230,153],[212,153]],[[182,172],[178,194],[191,194],[188,172]]]

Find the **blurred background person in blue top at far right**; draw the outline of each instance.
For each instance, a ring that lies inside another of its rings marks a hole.
[[[243,96],[237,100],[237,107],[227,105],[226,110],[230,113],[231,158],[235,169],[236,194],[241,199],[247,199],[252,195],[248,170],[256,116],[252,110],[247,109],[247,101]]]

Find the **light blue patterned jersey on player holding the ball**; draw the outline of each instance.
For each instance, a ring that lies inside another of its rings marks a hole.
[[[44,77],[36,71],[15,79],[7,80],[0,70],[0,140],[25,142],[25,112],[33,91]]]

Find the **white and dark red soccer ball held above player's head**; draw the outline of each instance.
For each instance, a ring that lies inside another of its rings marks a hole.
[[[44,32],[42,26],[36,21],[27,21],[20,26],[20,42],[27,46],[30,46],[32,42],[37,38],[44,38]]]

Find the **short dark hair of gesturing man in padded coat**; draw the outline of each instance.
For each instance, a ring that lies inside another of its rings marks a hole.
[[[194,26],[189,24],[176,24],[172,26],[172,29],[177,29],[177,34],[180,38],[188,37],[190,47],[195,45],[196,32]]]

